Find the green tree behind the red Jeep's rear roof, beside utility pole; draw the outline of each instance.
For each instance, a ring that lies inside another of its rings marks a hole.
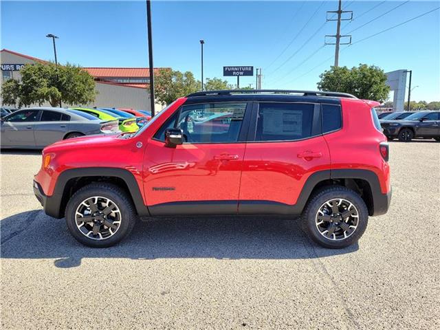
[[[351,69],[331,67],[320,75],[318,89],[339,91],[358,98],[384,102],[388,99],[390,87],[386,85],[384,70],[374,65],[360,64]]]

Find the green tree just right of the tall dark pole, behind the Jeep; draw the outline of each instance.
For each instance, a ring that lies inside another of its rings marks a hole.
[[[170,104],[176,98],[195,93],[200,81],[195,80],[192,72],[182,74],[171,69],[159,69],[155,74],[155,98],[162,104]]]

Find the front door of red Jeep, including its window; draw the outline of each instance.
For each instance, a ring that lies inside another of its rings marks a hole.
[[[152,215],[236,214],[245,142],[246,102],[185,104],[148,142],[144,192]],[[164,144],[166,128],[180,128],[186,142]]]

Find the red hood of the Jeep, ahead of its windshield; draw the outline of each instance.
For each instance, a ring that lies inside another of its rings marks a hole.
[[[65,148],[90,148],[95,146],[101,146],[104,144],[111,144],[115,142],[120,133],[108,133],[108,134],[96,134],[85,135],[81,137],[74,137],[69,140],[61,140],[50,144],[44,148],[44,153],[50,153]]]

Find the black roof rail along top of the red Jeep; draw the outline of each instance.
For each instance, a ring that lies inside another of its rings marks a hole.
[[[303,94],[303,96],[328,96],[336,98],[357,98],[347,93],[339,93],[336,91],[297,91],[283,89],[223,89],[219,91],[197,91],[187,95],[187,98],[193,96],[208,95],[232,95],[232,94]]]

